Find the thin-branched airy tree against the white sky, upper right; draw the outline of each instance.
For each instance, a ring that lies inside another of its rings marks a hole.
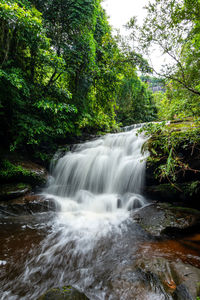
[[[153,46],[170,57],[159,76],[172,80],[180,89],[200,96],[200,3],[198,0],[154,0],[146,7],[147,17],[142,27],[135,27],[135,19],[129,22],[134,29],[132,37],[138,39],[140,49],[148,55]]]

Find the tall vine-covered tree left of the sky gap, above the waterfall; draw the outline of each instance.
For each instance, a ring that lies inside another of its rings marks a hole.
[[[101,86],[101,71],[107,64],[105,53],[109,52],[107,42],[105,43],[107,45],[103,43],[106,39],[112,39],[111,27],[100,6],[100,1],[34,0],[32,2],[43,12],[48,36],[55,43],[57,54],[62,54],[66,62],[72,94],[71,103],[75,103],[79,111],[75,120],[78,127],[81,130],[87,127],[89,130],[92,127],[105,129],[104,125],[108,128],[115,125],[114,99],[109,101],[107,98],[105,101],[103,98],[101,104],[104,103],[100,105],[96,88],[97,85],[99,88]],[[105,73],[104,75],[106,76]]]

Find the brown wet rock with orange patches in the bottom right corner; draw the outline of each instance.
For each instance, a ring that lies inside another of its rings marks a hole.
[[[111,283],[115,297],[123,300],[196,300],[200,270],[181,261],[139,258],[116,270]]]

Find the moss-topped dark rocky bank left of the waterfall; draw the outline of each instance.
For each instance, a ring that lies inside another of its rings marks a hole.
[[[0,206],[2,213],[21,214],[38,210],[43,199],[33,194],[44,186],[48,179],[47,170],[21,157],[1,160],[0,163]],[[41,200],[42,199],[42,200]],[[36,205],[37,201],[39,202]],[[37,207],[36,207],[37,206]],[[46,207],[46,201],[44,202]]]

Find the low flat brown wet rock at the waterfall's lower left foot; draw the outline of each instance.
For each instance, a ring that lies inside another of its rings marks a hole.
[[[60,207],[53,199],[40,195],[25,195],[23,197],[0,202],[0,215],[30,215],[46,211],[58,211]]]

